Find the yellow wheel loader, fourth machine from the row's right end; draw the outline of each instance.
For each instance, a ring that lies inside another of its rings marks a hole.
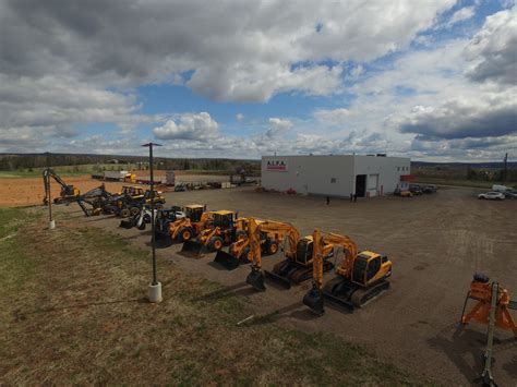
[[[248,218],[239,218],[231,210],[218,210],[211,213],[212,219],[195,240],[187,240],[181,253],[190,256],[201,256],[207,252],[217,252],[223,246],[245,238]]]

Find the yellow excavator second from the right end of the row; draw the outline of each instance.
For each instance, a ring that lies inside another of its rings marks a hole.
[[[249,261],[252,263],[251,273],[247,277],[247,283],[257,291],[264,291],[264,278],[275,281],[289,289],[291,283],[299,283],[312,278],[312,235],[300,237],[298,230],[289,223],[267,222],[257,223],[251,218],[248,225],[248,239],[250,252]],[[261,232],[276,231],[285,235],[286,259],[275,265],[274,271],[262,270]],[[334,245],[326,244],[323,249],[323,270],[330,270],[334,266],[328,261],[334,254]]]

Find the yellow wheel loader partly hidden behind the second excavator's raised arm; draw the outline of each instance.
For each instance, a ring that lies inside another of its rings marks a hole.
[[[275,255],[278,252],[279,245],[284,242],[286,233],[292,229],[292,226],[272,220],[258,220],[256,218],[254,218],[254,221],[260,229],[258,235],[262,255]],[[233,242],[228,253],[219,250],[214,258],[214,262],[220,264],[228,270],[236,269],[240,264],[250,263],[249,222],[243,226],[245,228],[243,238]]]

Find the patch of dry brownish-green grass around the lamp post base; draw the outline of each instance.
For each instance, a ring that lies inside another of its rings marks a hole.
[[[49,231],[44,217],[27,214],[0,211],[13,225],[2,232],[17,230],[0,242],[0,379],[8,385],[426,383],[333,335],[267,321],[237,327],[253,312],[244,299],[167,259],[158,259],[167,297],[149,304],[147,250],[64,219]]]

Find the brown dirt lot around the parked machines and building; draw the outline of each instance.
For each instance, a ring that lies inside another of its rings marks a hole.
[[[360,249],[387,254],[394,263],[392,289],[352,314],[327,304],[323,317],[312,315],[301,303],[310,283],[290,290],[266,283],[267,291],[256,293],[244,282],[249,267],[227,271],[212,263],[214,254],[192,259],[177,254],[180,245],[173,245],[158,250],[158,258],[172,259],[187,273],[227,286],[229,292],[245,297],[257,314],[278,311],[268,322],[330,331],[366,346],[413,375],[444,385],[469,385],[482,370],[485,341],[484,326],[470,324],[458,329],[472,275],[489,275],[517,298],[517,201],[478,201],[476,194],[468,189],[447,189],[434,195],[377,197],[356,204],[333,199],[329,206],[321,197],[288,197],[253,189],[166,194],[168,205],[206,203],[209,209],[229,208],[241,216],[290,221],[303,233],[317,227],[348,234]],[[80,223],[109,229],[129,243],[148,245],[149,231],[120,229],[116,218],[85,218],[72,206],[59,208]],[[269,269],[279,259],[279,255],[265,257],[264,267]],[[497,330],[494,351],[496,382],[515,385],[517,340]]]

